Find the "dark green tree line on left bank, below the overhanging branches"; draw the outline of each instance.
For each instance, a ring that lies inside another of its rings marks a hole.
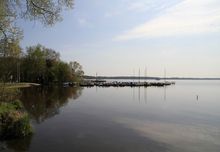
[[[0,69],[3,82],[79,82],[84,74],[78,62],[64,62],[58,52],[40,44],[27,47],[25,52],[11,44],[7,53],[0,56]]]

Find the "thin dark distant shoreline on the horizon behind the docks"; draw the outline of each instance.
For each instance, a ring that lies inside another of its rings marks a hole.
[[[191,77],[132,77],[132,76],[84,76],[84,79],[135,79],[135,80],[220,80],[220,78],[191,78]]]

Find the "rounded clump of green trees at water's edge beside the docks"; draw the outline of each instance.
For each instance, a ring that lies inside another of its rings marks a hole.
[[[44,84],[79,81],[83,73],[78,62],[63,62],[59,53],[42,45],[28,47],[22,58],[21,81]]]

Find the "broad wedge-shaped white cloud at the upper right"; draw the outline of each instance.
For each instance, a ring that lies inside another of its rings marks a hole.
[[[220,1],[184,0],[161,16],[124,32],[114,40],[210,32],[220,32]]]

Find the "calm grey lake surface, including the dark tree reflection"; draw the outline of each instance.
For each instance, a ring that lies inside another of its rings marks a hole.
[[[176,81],[165,88],[29,88],[21,100],[35,133],[3,143],[0,151],[220,151],[220,81]]]

